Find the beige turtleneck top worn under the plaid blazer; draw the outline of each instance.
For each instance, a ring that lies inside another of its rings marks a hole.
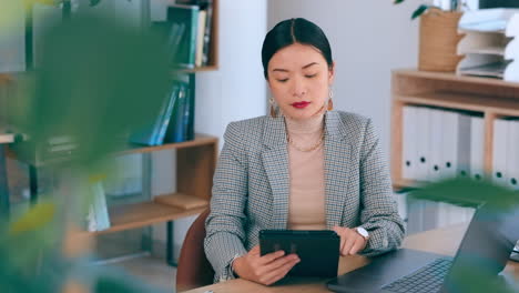
[[[287,134],[299,149],[309,149],[323,135],[324,115],[305,121],[285,117]],[[324,142],[303,152],[288,143],[291,192],[288,229],[325,230]]]

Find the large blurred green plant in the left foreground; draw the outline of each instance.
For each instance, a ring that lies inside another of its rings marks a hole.
[[[1,38],[9,30],[2,26],[13,21],[3,17],[20,8],[0,1]],[[102,159],[155,119],[170,83],[165,48],[151,32],[82,13],[50,28],[42,40],[37,68],[17,77],[9,121],[27,143],[68,137],[78,148],[65,163],[47,166],[63,179],[47,201],[18,219],[1,219],[0,292],[61,292],[70,280],[88,284],[89,292],[154,292],[126,275],[96,275],[102,269],[89,264],[88,255],[67,257],[64,238],[68,225],[85,216],[89,181],[108,172]]]

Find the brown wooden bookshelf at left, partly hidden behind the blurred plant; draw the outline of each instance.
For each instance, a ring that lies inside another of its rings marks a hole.
[[[205,67],[199,67],[191,70],[183,70],[181,73],[189,73],[190,75],[190,87],[193,95],[195,95],[195,73],[196,72],[206,72],[214,71],[218,69],[218,0],[212,0],[213,3],[213,17],[211,22],[211,41],[210,41],[210,53],[208,53],[208,64]],[[143,3],[150,4],[150,1],[143,1]],[[149,7],[143,11],[149,11]],[[72,16],[73,17],[73,16]],[[145,18],[144,18],[145,19]],[[29,33],[26,36],[32,40],[32,34]],[[26,50],[29,52],[32,51],[32,48]],[[28,60],[31,60],[31,54],[28,57]],[[29,62],[30,63],[30,62]],[[28,63],[28,67],[31,68],[31,64]],[[173,78],[176,73],[176,70],[171,70],[171,77]],[[0,73],[0,94],[6,89],[14,90],[17,88],[16,74],[4,74]],[[1,98],[1,97],[0,97]],[[0,107],[2,105],[2,100],[0,100]],[[9,102],[9,101],[7,101]],[[1,110],[1,109],[0,109]],[[1,111],[0,111],[1,112]],[[0,127],[1,125],[0,121]],[[0,133],[1,137],[2,133]],[[167,223],[167,261],[172,263],[172,234],[173,234],[173,224],[172,221],[182,219],[185,216],[194,215],[201,213],[203,210],[207,209],[208,202],[211,199],[211,189],[213,173],[215,170],[216,159],[217,159],[217,139],[211,135],[196,134],[194,140],[180,142],[180,143],[166,143],[157,146],[142,146],[142,145],[128,145],[128,148],[121,152],[115,153],[114,155],[124,155],[124,154],[134,154],[141,153],[143,155],[150,155],[152,152],[156,151],[176,151],[176,186],[177,192],[183,194],[182,201],[185,201],[186,206],[189,206],[191,201],[196,201],[196,208],[177,208],[160,203],[153,200],[116,205],[109,208],[111,228],[105,231],[99,232],[80,232],[80,235],[98,235],[113,233],[118,231],[131,230],[136,228],[143,228],[155,223]],[[0,149],[3,154],[3,148]],[[6,153],[8,156],[11,156],[16,160],[20,160],[29,164],[29,181],[30,181],[30,194],[31,203],[37,202],[38,200],[38,169],[52,164],[59,163],[59,160],[45,160],[45,158],[20,158],[17,153],[13,152],[12,148],[6,148]],[[61,160],[61,159],[60,159]],[[63,161],[67,159],[63,159]],[[9,173],[9,172],[8,172]],[[179,199],[179,194],[166,194],[162,195],[165,199]],[[202,204],[201,204],[202,202]],[[205,202],[205,204],[204,204]],[[182,205],[182,204],[181,204]],[[9,194],[0,196],[0,208],[7,206],[9,209]]]

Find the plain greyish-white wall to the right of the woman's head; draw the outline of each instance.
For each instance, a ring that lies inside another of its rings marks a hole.
[[[390,70],[417,65],[421,3],[407,0],[269,0],[268,29],[281,20],[303,17],[327,34],[336,62],[334,105],[373,119],[384,151],[389,153]]]

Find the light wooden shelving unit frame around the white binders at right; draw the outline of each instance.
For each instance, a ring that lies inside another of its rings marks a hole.
[[[519,117],[519,83],[454,73],[395,70],[391,77],[391,178],[395,189],[424,182],[404,180],[403,107],[429,105],[481,113],[485,119],[485,170],[491,171],[493,121]]]

